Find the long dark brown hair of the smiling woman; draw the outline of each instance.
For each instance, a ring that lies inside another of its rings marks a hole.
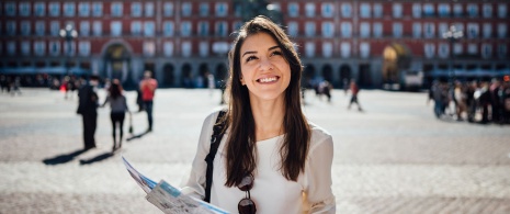
[[[240,48],[247,37],[267,33],[283,52],[291,67],[291,82],[285,90],[285,115],[283,119],[284,142],[280,148],[282,174],[296,181],[305,170],[305,160],[310,140],[310,127],[301,109],[301,78],[303,65],[285,32],[265,16],[257,16],[240,29],[233,48],[228,53],[229,75],[227,85],[228,111],[226,115],[230,134],[227,138],[227,181],[225,185],[240,183],[248,173],[257,169],[256,124],[251,112],[248,88],[240,82]]]

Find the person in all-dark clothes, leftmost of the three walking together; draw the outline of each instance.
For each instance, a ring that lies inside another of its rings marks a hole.
[[[89,83],[83,85],[78,90],[78,110],[77,113],[83,117],[83,143],[84,149],[95,148],[95,127],[98,125],[98,106],[99,98],[95,92],[99,77],[91,76]]]

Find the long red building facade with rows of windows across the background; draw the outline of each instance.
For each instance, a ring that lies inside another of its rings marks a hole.
[[[467,78],[510,69],[508,1],[270,2],[311,80],[341,87],[354,78],[376,88],[395,69],[429,79],[453,69]],[[135,86],[152,70],[163,87],[203,87],[207,72],[227,77],[241,13],[233,0],[2,1],[0,74],[98,74]],[[60,36],[67,25],[76,38]],[[451,25],[461,38],[443,37]]]

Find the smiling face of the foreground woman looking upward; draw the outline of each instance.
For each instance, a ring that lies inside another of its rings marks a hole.
[[[274,100],[284,97],[291,82],[291,66],[276,41],[267,33],[250,35],[240,48],[241,83],[250,98]]]

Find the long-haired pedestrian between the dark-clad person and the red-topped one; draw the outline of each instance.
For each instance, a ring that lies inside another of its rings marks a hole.
[[[122,137],[124,135],[124,119],[127,109],[126,97],[123,94],[121,81],[114,79],[109,87],[109,94],[101,106],[110,103],[110,120],[112,121],[113,148],[112,153],[122,147]],[[118,128],[118,146],[116,143],[116,129]]]

